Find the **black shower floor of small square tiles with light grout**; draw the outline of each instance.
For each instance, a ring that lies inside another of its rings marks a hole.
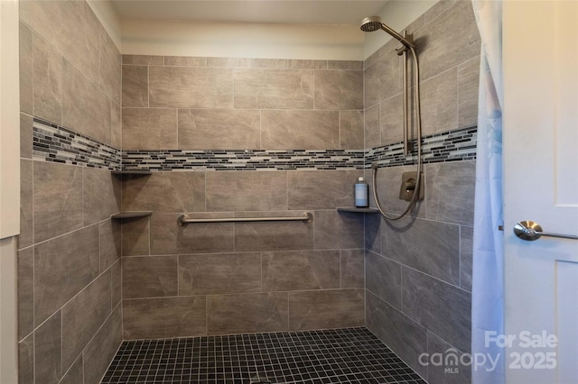
[[[425,384],[364,327],[126,341],[101,382]]]

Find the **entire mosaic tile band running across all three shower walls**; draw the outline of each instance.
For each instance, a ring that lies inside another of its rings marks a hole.
[[[476,159],[477,127],[426,136],[422,144],[425,164]],[[396,142],[363,150],[238,150],[238,151],[119,151],[68,128],[33,119],[33,158],[70,165],[111,170],[287,170],[368,169],[415,164],[417,156],[403,155]]]

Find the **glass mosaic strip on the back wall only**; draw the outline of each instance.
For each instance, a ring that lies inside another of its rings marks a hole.
[[[365,151],[123,151],[123,169],[363,169]]]

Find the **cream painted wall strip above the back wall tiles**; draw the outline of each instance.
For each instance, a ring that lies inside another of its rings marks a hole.
[[[363,58],[352,25],[122,20],[124,54],[259,59]]]

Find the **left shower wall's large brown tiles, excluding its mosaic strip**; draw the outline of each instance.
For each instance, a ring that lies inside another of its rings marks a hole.
[[[33,116],[120,147],[121,57],[84,1],[20,2],[20,383],[98,383],[121,342],[121,180],[33,159]]]

